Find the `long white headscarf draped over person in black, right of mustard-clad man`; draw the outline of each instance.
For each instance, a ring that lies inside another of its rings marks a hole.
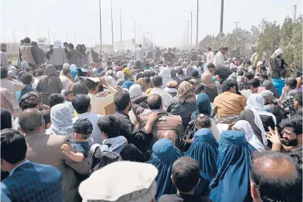
[[[264,126],[262,123],[262,120],[260,118],[260,115],[265,115],[268,117],[273,117],[273,121],[275,124],[277,124],[277,120],[275,119],[275,116],[273,116],[272,113],[266,112],[264,109],[264,98],[262,97],[261,94],[251,94],[251,96],[248,98],[246,102],[246,110],[251,110],[253,112],[253,115],[255,117],[255,125],[257,125],[257,128],[261,130],[262,134],[262,140],[263,144],[266,146],[267,145],[267,139],[266,139],[266,134],[264,130]]]

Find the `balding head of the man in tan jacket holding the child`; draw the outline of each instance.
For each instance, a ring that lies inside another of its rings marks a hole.
[[[43,115],[35,108],[26,109],[20,114],[18,123],[24,132],[32,132],[43,123]]]

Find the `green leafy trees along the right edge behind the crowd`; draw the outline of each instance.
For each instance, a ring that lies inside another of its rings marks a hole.
[[[295,22],[287,16],[281,28],[275,21],[262,19],[261,23],[252,26],[251,30],[233,30],[232,33],[226,34],[225,39],[207,35],[200,41],[199,48],[206,50],[209,46],[215,51],[223,44],[228,46],[226,57],[245,59],[251,57],[251,46],[256,44],[260,59],[266,61],[277,48],[282,48],[285,61],[292,64],[288,68],[289,72],[295,72],[297,68],[302,68],[302,16]]]

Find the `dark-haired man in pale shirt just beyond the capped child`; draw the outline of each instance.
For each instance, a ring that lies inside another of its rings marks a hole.
[[[91,112],[90,97],[86,94],[77,94],[77,96],[72,99],[72,107],[76,110],[77,114],[79,114],[72,119],[72,122],[75,123],[79,118],[87,118],[90,123],[92,123],[92,134],[90,138],[93,139],[94,143],[102,144],[101,132],[97,126],[97,121],[103,116]]]

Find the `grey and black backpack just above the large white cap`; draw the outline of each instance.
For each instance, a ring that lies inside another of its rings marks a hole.
[[[90,148],[92,151],[92,170],[90,173],[95,172],[95,170],[99,170],[110,163],[123,161],[120,152],[125,146],[126,145],[121,145],[115,150],[110,150],[109,145],[93,144]]]

